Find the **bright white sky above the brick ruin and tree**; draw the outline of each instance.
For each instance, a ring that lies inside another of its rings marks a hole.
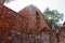
[[[31,4],[37,6],[41,12],[47,8],[50,8],[50,10],[57,10],[60,13],[64,13],[65,22],[65,0],[15,0],[10,3],[4,3],[4,5],[15,12],[18,12]]]

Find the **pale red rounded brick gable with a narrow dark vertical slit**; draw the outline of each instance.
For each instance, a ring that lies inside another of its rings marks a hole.
[[[28,30],[39,30],[44,27],[50,28],[42,16],[42,13],[34,5],[29,5],[18,12],[28,20]]]

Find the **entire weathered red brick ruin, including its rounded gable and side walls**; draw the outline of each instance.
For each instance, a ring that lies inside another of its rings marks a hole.
[[[36,6],[16,13],[3,5],[0,9],[0,43],[65,43],[65,24],[56,32]]]

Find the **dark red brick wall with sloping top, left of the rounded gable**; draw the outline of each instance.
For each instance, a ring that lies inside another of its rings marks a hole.
[[[0,12],[0,43],[20,43],[20,34],[27,28],[24,16],[3,5]]]

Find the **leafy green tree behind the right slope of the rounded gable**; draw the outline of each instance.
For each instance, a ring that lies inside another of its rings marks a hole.
[[[43,16],[48,20],[49,26],[54,30],[57,30],[58,27],[62,25],[60,24],[60,22],[63,20],[63,13],[58,13],[57,10],[51,11],[48,8],[43,12]]]

